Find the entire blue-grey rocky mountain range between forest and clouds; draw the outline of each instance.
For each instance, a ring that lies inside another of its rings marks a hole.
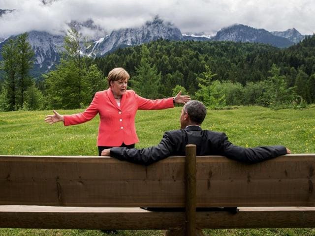
[[[53,0],[43,0],[44,4],[51,4]],[[9,14],[12,10],[0,9],[0,17]],[[269,32],[265,29],[255,29],[249,26],[235,24],[219,30],[214,36],[204,33],[182,33],[179,28],[170,22],[165,22],[158,16],[152,21],[136,28],[113,30],[108,33],[106,29],[97,26],[93,20],[85,22],[71,21],[69,28],[74,28],[82,35],[82,54],[89,57],[102,57],[118,48],[140,45],[157,39],[166,40],[194,40],[194,41],[234,41],[234,42],[256,42],[270,44],[275,47],[289,47],[304,39],[305,35],[296,29]],[[30,31],[29,42],[35,52],[33,75],[40,76],[41,73],[54,68],[60,59],[63,50],[63,37],[52,35],[45,31]],[[16,35],[12,35],[14,37]],[[10,38],[10,37],[9,37]],[[0,38],[0,51],[8,38]],[[90,42],[85,47],[84,42]],[[0,55],[1,59],[1,55]]]

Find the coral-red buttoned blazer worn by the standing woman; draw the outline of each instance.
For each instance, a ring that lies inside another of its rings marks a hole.
[[[150,100],[126,90],[120,107],[111,89],[95,93],[90,106],[82,113],[63,116],[64,125],[86,122],[99,113],[97,146],[119,147],[139,142],[135,129],[137,110],[159,110],[174,107],[172,98]]]

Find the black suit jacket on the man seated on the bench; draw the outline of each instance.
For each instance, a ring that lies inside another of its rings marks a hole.
[[[167,131],[161,142],[150,148],[111,148],[110,155],[142,165],[150,165],[171,155],[185,155],[186,145],[195,144],[197,155],[222,155],[227,158],[255,163],[286,154],[284,146],[242,148],[234,146],[224,133],[202,130],[200,126]]]

